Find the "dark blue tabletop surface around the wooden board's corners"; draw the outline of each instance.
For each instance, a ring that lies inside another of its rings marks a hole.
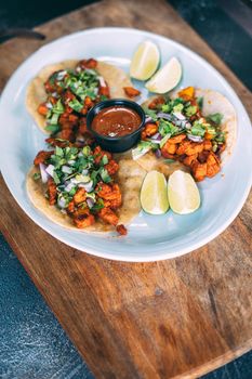
[[[10,29],[31,28],[92,2],[1,1],[0,42],[13,31]],[[251,90],[252,1],[170,0],[170,3]],[[0,378],[93,378],[1,235]],[[252,353],[202,378],[251,379]]]

